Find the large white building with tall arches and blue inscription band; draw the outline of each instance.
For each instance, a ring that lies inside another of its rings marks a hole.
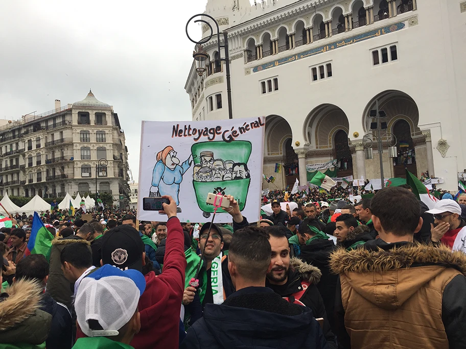
[[[371,160],[363,147],[378,101],[383,133],[404,152],[391,159],[384,143],[384,176],[403,177],[407,166],[456,190],[466,167],[465,1],[208,0],[205,13],[228,32],[234,118],[267,116],[264,173],[278,187],[305,183],[306,164],[332,159],[339,177],[380,178],[377,143]],[[216,36],[203,48],[207,70],[198,76],[193,63],[185,85],[193,120],[225,119]]]

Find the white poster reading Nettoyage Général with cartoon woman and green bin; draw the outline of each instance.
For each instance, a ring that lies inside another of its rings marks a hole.
[[[206,222],[208,193],[234,195],[251,221],[259,220],[265,118],[143,121],[137,218],[166,221],[144,210],[144,198],[171,195],[181,221]],[[218,209],[215,222],[231,222]]]

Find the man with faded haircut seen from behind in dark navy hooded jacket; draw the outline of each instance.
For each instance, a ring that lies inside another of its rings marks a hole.
[[[203,318],[188,330],[181,349],[327,348],[310,309],[291,304],[265,287],[271,253],[262,229],[235,232],[228,269],[237,291],[221,305],[205,306]]]

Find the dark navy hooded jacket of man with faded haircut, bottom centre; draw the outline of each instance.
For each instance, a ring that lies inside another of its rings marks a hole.
[[[207,304],[181,349],[328,348],[306,307],[288,303],[267,287],[243,288],[221,305]]]

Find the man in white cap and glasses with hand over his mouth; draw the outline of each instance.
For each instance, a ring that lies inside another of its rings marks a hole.
[[[432,242],[441,242],[453,251],[466,252],[466,230],[463,229],[466,222],[461,219],[458,203],[451,199],[440,200],[426,213],[431,213],[435,218],[434,224],[431,224]]]

